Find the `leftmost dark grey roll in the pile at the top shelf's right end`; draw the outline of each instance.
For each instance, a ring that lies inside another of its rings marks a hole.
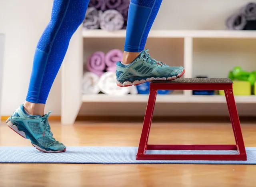
[[[234,14],[226,21],[228,30],[243,30],[246,26],[246,18],[244,14]]]

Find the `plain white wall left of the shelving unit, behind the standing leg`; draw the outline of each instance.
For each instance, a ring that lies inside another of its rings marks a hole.
[[[0,33],[6,34],[2,115],[10,115],[26,98],[36,44],[51,16],[52,0],[0,0]],[[60,75],[46,110],[60,115]]]

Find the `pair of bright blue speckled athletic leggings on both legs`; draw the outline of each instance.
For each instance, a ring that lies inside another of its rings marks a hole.
[[[34,54],[33,68],[26,101],[46,103],[60,69],[68,44],[82,24],[89,0],[54,0],[52,16]],[[144,50],[148,33],[162,0],[131,0],[124,50]]]

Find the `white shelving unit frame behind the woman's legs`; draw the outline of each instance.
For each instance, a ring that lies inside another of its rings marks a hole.
[[[80,28],[73,36],[70,49],[65,58],[70,63],[65,63],[62,67],[62,123],[72,124],[82,103],[100,102],[147,102],[148,95],[126,95],[111,96],[105,94],[82,95],[82,42],[83,38],[125,38],[126,31],[106,32],[104,30],[84,30]],[[81,37],[82,36],[82,37]],[[193,42],[196,38],[236,38],[236,39],[256,39],[255,31],[228,31],[228,30],[151,30],[149,38],[182,38],[184,41],[184,62],[186,70],[184,78],[193,76]],[[80,62],[75,64],[73,62]],[[179,95],[158,95],[159,103],[225,103],[222,95],[192,95],[190,90]],[[256,96],[236,96],[237,103],[256,103]]]

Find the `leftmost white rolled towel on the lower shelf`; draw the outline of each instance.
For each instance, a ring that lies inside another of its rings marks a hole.
[[[92,72],[84,73],[82,82],[82,93],[83,94],[98,94],[100,88],[98,87],[98,82],[100,77]]]

